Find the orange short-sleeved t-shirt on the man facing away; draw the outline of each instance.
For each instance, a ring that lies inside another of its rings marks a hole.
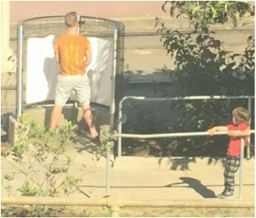
[[[60,74],[85,74],[86,51],[91,51],[90,42],[86,37],[79,34],[65,34],[58,37],[54,42],[54,52],[59,53]]]

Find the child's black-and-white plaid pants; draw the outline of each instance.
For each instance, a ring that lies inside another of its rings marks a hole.
[[[225,180],[225,190],[234,192],[235,178],[234,174],[238,171],[240,167],[240,157],[239,156],[227,156],[224,180]]]

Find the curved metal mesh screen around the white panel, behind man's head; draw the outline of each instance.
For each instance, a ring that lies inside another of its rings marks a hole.
[[[29,38],[45,38],[49,35],[59,36],[67,31],[64,16],[37,17],[20,22],[23,26],[23,81],[26,86],[27,73],[27,42]],[[123,73],[124,62],[124,25],[113,20],[80,16],[80,34],[113,40],[114,31],[118,30],[117,37],[117,65],[116,73]],[[40,52],[40,51],[38,51]],[[23,99],[26,102],[24,92]]]

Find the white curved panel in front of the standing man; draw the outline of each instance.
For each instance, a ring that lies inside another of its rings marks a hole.
[[[29,38],[27,43],[26,103],[54,100],[60,65],[54,58],[54,35]],[[92,62],[86,68],[90,79],[91,102],[110,106],[111,75],[113,71],[112,39],[88,37],[92,48]],[[74,93],[71,100],[76,100]]]

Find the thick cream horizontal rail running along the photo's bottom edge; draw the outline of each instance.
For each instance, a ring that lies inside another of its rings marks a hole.
[[[139,200],[139,199],[85,199],[85,198],[49,198],[49,197],[1,197],[1,205],[63,205],[63,206],[113,206],[120,207],[237,207],[254,208],[254,201],[231,199],[194,199],[194,200]]]

